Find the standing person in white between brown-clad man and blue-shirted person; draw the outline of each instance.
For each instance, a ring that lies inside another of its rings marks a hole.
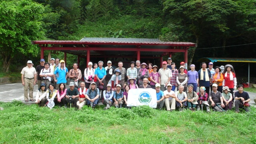
[[[84,70],[85,87],[88,89],[91,82],[94,79],[94,69],[92,68],[92,62],[88,62],[88,68]]]

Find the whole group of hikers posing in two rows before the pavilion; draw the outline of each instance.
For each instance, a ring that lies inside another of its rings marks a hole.
[[[54,63],[55,62],[55,63]],[[232,65],[216,66],[213,63],[202,62],[201,69],[197,72],[195,65],[190,65],[190,70],[185,68],[185,63],[180,62],[180,68],[168,58],[167,62],[162,62],[162,68],[152,63],[130,62],[130,68],[123,68],[123,63],[118,62],[118,68],[112,67],[109,60],[107,66],[104,62],[98,64],[88,63],[88,68],[84,70],[84,82],[82,72],[78,69],[78,64],[73,64],[73,69],[68,71],[64,60],[52,58],[51,64],[40,60],[40,65],[36,69],[32,66],[32,61],[28,60],[27,66],[23,68],[22,84],[24,85],[24,99],[28,102],[33,99],[33,87],[38,83],[38,93],[35,102],[40,106],[51,107],[74,106],[81,109],[84,105],[92,108],[103,102],[104,109],[114,105],[116,108],[127,107],[128,93],[135,88],[153,88],[156,90],[157,108],[172,111],[176,108],[183,110],[188,108],[192,111],[206,107],[206,112],[210,112],[210,107],[216,111],[231,110],[234,100],[236,112],[239,108],[249,111],[248,102],[250,98],[247,92],[243,92],[243,86],[238,86],[236,90],[236,75]],[[158,71],[157,71],[158,70]],[[127,77],[127,82],[125,78]],[[70,88],[66,88],[67,78],[69,78]],[[196,92],[197,87],[200,91]],[[175,89],[177,91],[175,92]],[[211,91],[210,91],[211,88]]]

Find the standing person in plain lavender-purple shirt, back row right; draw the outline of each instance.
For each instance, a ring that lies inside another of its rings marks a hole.
[[[198,72],[195,70],[196,66],[194,64],[190,65],[190,70],[188,71],[188,85],[192,84],[194,86],[193,91],[196,92],[198,84]]]

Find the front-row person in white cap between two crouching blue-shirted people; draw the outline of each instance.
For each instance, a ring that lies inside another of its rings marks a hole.
[[[110,108],[110,106],[112,106],[113,96],[114,96],[114,91],[111,90],[111,84],[108,84],[107,85],[107,90],[103,91],[103,97],[104,97],[103,104],[106,104],[106,107],[104,107],[104,110],[106,110],[106,109]]]

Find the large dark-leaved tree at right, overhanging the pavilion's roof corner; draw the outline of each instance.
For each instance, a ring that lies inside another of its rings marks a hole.
[[[249,31],[255,34],[255,0],[162,1],[168,22],[163,30],[169,38],[192,41],[198,46],[202,45],[202,41],[222,41],[222,46],[225,46],[228,38]],[[195,50],[191,50],[188,65],[192,63]]]

